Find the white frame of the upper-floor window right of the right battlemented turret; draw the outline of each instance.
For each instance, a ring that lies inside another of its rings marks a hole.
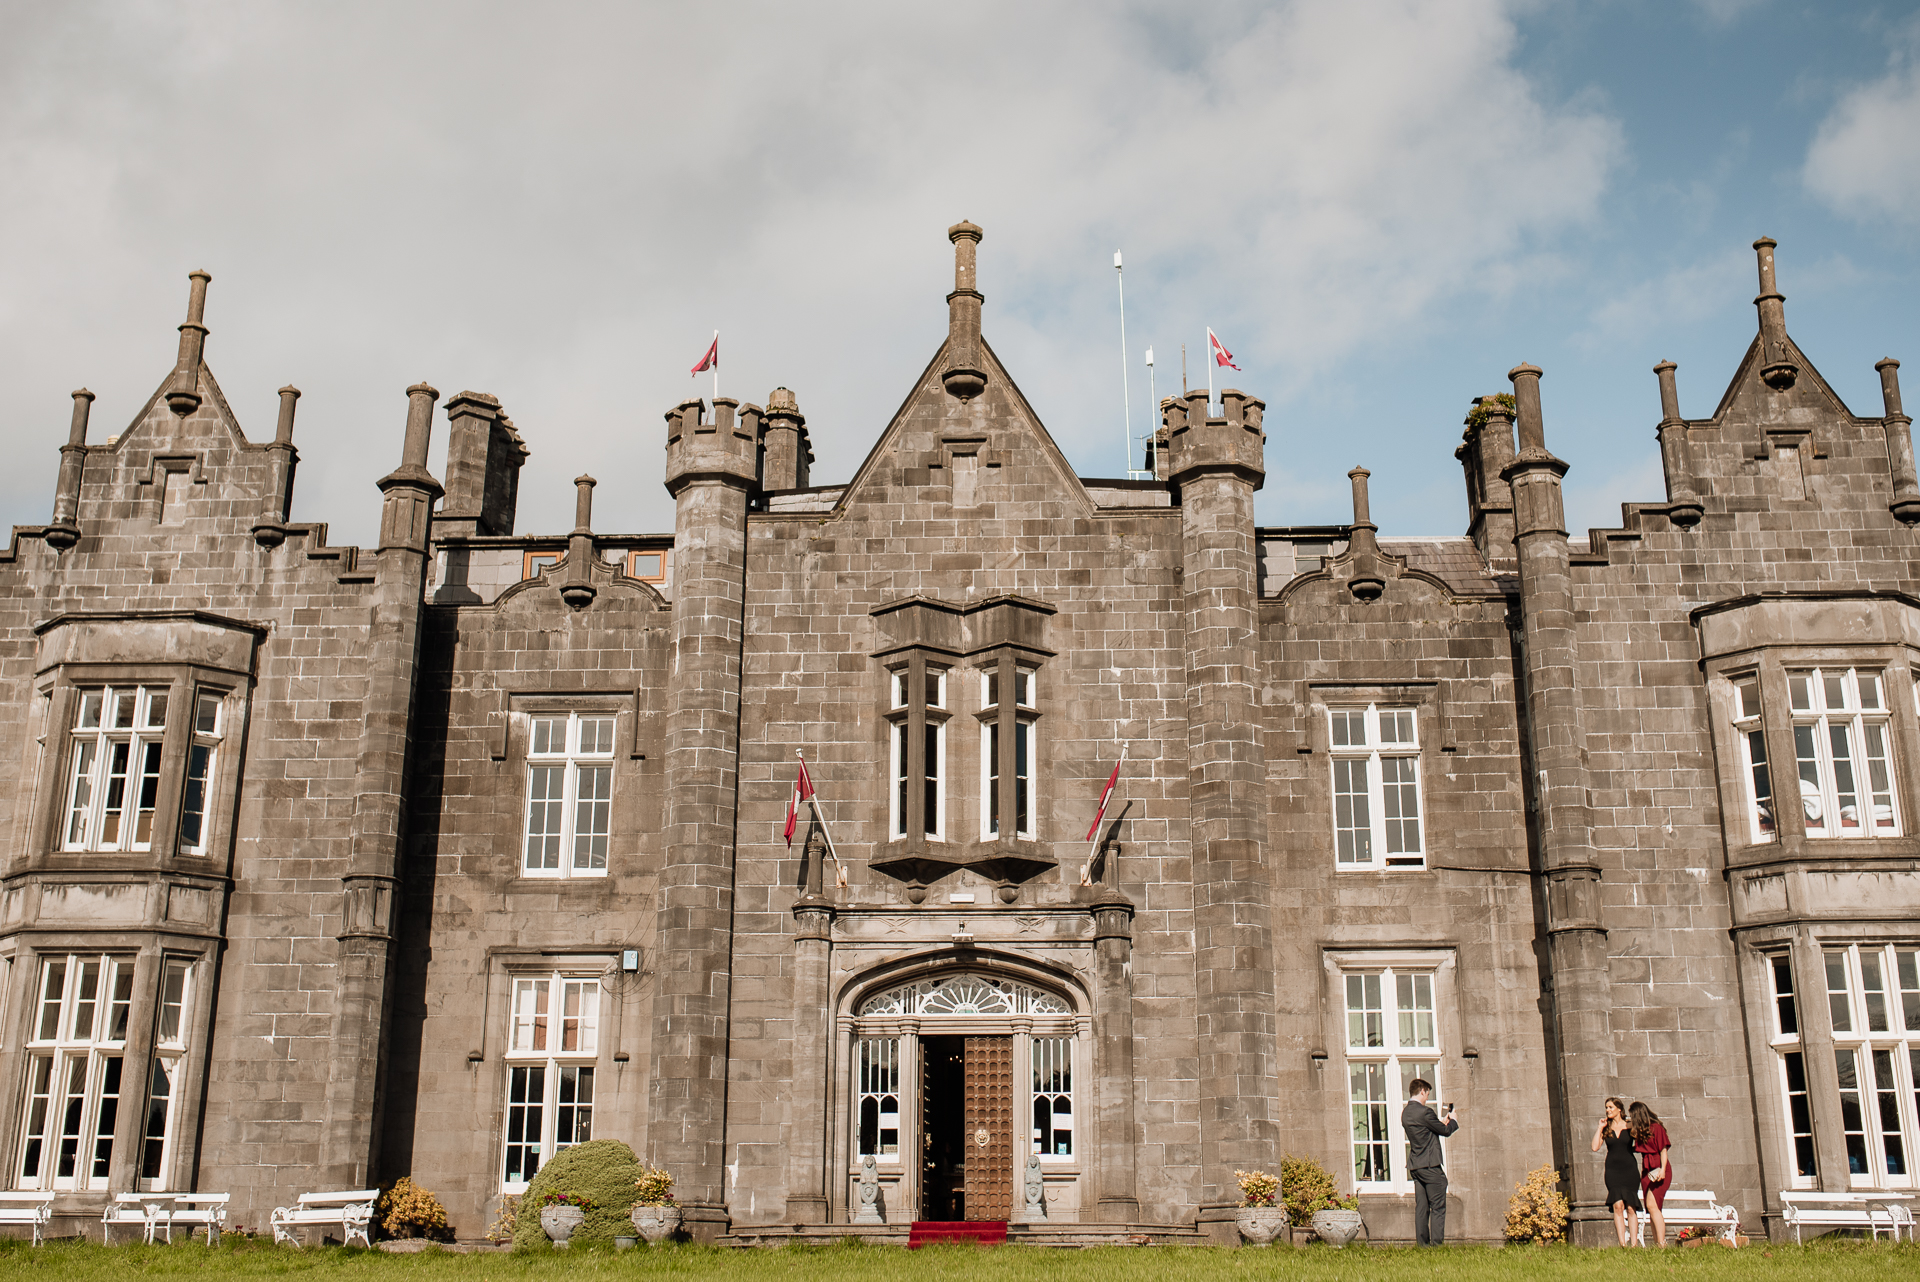
[[[1332,852],[1336,871],[1423,871],[1427,867],[1427,796],[1421,785],[1421,710],[1417,704],[1367,702],[1367,704],[1327,704],[1327,752],[1329,783],[1332,800]],[[1354,718],[1359,718],[1357,722]],[[1354,743],[1352,729],[1363,729],[1363,741]],[[1396,737],[1386,739],[1382,727]],[[1400,737],[1405,735],[1405,737]],[[1344,743],[1342,743],[1344,741]],[[1411,772],[1409,779],[1384,781],[1386,762],[1396,762],[1396,772]],[[1342,777],[1354,768],[1365,772],[1365,823],[1354,821],[1350,810],[1342,808],[1344,796],[1361,796],[1356,789],[1342,791]],[[1411,791],[1415,814],[1388,818],[1386,802],[1396,810],[1405,806]],[[1342,823],[1342,819],[1350,819]],[[1405,844],[1407,823],[1411,823],[1413,850],[1388,852],[1388,844]],[[1365,837],[1361,850],[1359,837]],[[1342,839],[1346,846],[1342,846]]]

